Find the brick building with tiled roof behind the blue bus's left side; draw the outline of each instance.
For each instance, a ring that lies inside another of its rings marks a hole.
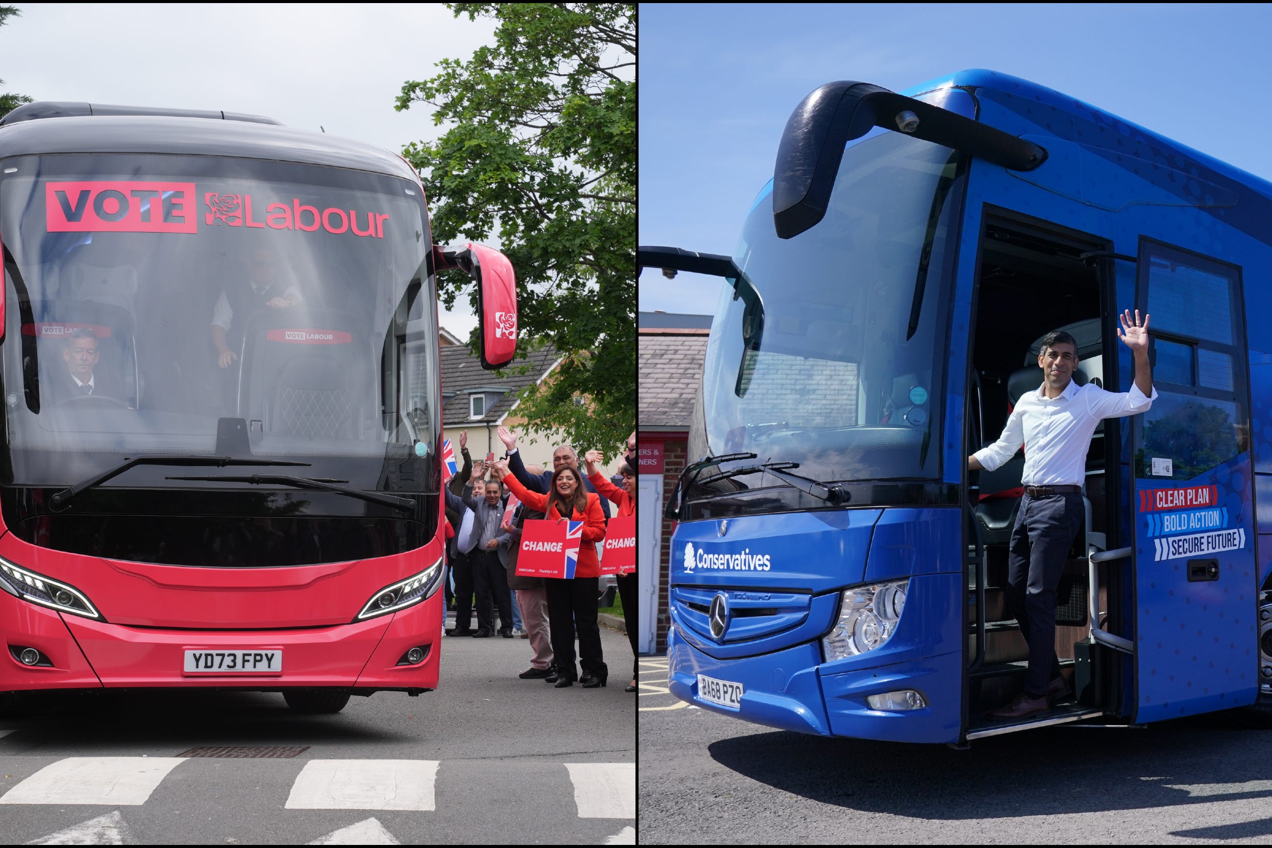
[[[653,591],[641,592],[644,604],[645,599],[656,591],[658,604],[654,606],[651,628],[653,651],[656,653],[667,650],[667,628],[670,622],[667,612],[668,553],[674,529],[672,521],[663,519],[661,506],[687,462],[693,397],[702,379],[702,360],[710,329],[710,315],[661,311],[642,311],[639,315],[640,472],[642,475],[661,472],[661,484],[653,486],[660,495],[659,509],[650,515],[651,510],[642,505],[640,511],[642,544],[645,540],[655,539],[659,548],[658,581],[651,584]],[[642,477],[642,486],[651,483],[653,481]],[[647,523],[654,523],[654,526]],[[642,556],[642,570],[647,562],[649,559]],[[644,614],[641,619],[645,620]]]

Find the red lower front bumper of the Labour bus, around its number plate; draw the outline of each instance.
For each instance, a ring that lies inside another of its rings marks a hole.
[[[439,591],[408,609],[332,627],[184,631],[97,622],[0,594],[0,637],[5,641],[0,692],[102,687],[435,689],[443,603]],[[23,665],[14,647],[33,647],[51,665]],[[412,647],[424,648],[425,659],[397,665]],[[262,648],[282,652],[281,671],[184,670],[187,650]]]

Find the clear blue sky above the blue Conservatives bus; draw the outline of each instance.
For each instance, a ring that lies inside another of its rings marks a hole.
[[[1272,8],[641,5],[640,244],[733,253],[795,104],[832,80],[903,90],[987,67],[1272,179]],[[656,271],[640,309],[711,313]]]

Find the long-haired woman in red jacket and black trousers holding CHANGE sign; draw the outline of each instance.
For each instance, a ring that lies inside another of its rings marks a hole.
[[[530,492],[508,470],[508,460],[495,463],[495,473],[508,489],[532,510],[543,512],[548,521],[567,516],[583,521],[583,540],[579,544],[579,563],[574,578],[544,578],[548,596],[548,628],[552,636],[556,678],[544,678],[557,688],[583,683],[585,689],[605,685],[609,670],[600,652],[600,627],[597,624],[597,543],[605,538],[605,514],[600,511],[600,498],[583,487],[583,475],[570,465],[562,465],[552,475],[548,495]],[[574,633],[579,632],[579,662],[583,678],[574,665]]]

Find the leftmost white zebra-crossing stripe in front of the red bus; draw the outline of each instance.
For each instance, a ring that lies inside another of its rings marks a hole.
[[[179,756],[67,756],[39,769],[0,804],[145,804]]]

